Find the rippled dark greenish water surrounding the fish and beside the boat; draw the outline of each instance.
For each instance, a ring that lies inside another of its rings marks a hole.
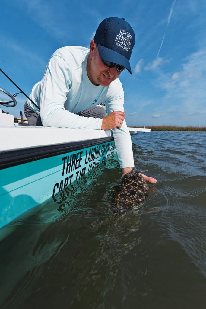
[[[1,308],[205,308],[206,133],[138,133],[133,151],[158,180],[139,209],[112,214],[110,159],[11,226]]]

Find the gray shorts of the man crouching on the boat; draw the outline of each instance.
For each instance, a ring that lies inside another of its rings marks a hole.
[[[43,127],[40,115],[38,115],[36,112],[33,112],[29,108],[27,101],[24,104],[24,114],[27,117],[29,125]],[[83,111],[76,113],[76,115],[101,119],[107,116],[105,109],[98,105],[84,109]]]

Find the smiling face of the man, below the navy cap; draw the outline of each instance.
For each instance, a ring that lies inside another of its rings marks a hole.
[[[116,70],[116,66],[109,68],[103,64],[99,57],[98,48],[94,40],[90,43],[89,68],[87,70],[88,77],[94,85],[108,86],[113,82],[121,72]]]

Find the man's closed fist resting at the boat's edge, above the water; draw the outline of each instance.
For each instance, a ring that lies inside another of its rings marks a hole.
[[[102,130],[120,129],[124,121],[124,112],[114,111],[102,120]]]

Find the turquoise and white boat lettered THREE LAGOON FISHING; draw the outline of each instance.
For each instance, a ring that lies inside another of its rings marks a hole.
[[[116,153],[111,130],[32,127],[22,122],[0,112],[0,228],[54,198]],[[132,138],[150,129],[129,131]]]

